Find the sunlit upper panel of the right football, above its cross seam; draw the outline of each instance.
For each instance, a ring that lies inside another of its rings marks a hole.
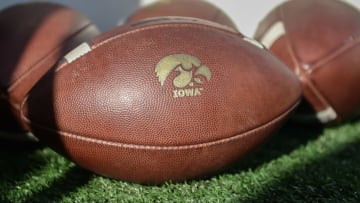
[[[295,0],[284,3],[281,10],[301,63],[321,60],[360,33],[359,11],[342,1]]]

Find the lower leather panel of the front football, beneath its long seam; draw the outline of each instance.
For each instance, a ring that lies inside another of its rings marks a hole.
[[[295,105],[296,106],[296,105]],[[258,147],[295,108],[243,134],[200,145],[127,145],[62,133],[34,125],[40,139],[80,166],[111,178],[161,184],[204,178],[229,167]]]

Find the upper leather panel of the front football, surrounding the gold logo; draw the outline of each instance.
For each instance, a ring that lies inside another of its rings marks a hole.
[[[131,31],[62,66],[30,95],[30,119],[107,141],[182,145],[256,128],[297,102],[298,81],[286,68],[278,67],[284,66],[279,60],[236,35],[198,26],[171,24]],[[187,43],[173,40],[174,36],[185,37]],[[224,52],[218,52],[219,47]],[[186,87],[203,88],[201,95],[174,98],[174,91],[179,90],[173,85],[175,72],[161,85],[155,67],[175,53],[196,56],[211,70],[210,81],[203,78],[203,85]],[[52,82],[54,89],[47,85]],[[53,109],[56,118],[48,119],[48,109]],[[57,123],[49,123],[53,120]]]

